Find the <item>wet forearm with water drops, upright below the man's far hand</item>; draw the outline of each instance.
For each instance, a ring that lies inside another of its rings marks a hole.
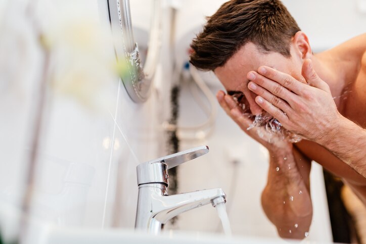
[[[306,237],[312,219],[309,174],[311,161],[293,148],[270,152],[262,207],[283,238]]]

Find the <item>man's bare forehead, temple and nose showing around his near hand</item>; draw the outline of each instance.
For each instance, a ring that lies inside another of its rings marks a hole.
[[[262,114],[262,109],[255,102],[256,94],[248,89],[247,74],[249,71],[257,71],[262,65],[275,68],[301,80],[302,57],[292,46],[291,58],[286,58],[279,53],[263,54],[255,44],[248,42],[224,66],[214,70],[229,94],[233,91],[244,93],[247,106],[253,115]]]

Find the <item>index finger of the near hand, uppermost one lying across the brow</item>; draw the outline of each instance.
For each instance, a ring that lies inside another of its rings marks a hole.
[[[304,83],[296,80],[291,75],[283,73],[281,71],[278,71],[276,69],[273,69],[273,68],[270,68],[267,66],[259,67],[258,73],[267,77],[270,80],[276,81],[277,83],[281,84],[282,86],[292,90],[296,94],[300,94],[301,90],[303,89],[303,86],[305,85]]]

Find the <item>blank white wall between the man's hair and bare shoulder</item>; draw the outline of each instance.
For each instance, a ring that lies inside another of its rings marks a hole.
[[[365,31],[364,0],[283,0],[299,27],[310,40],[314,52],[336,46]]]

